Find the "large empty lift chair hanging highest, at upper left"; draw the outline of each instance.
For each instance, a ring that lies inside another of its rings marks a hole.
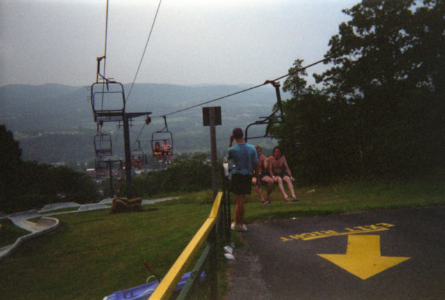
[[[122,121],[125,113],[124,86],[100,74],[100,62],[104,58],[97,58],[96,82],[91,85],[92,113],[97,123]]]

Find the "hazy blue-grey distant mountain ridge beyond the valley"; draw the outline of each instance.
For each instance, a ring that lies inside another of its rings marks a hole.
[[[152,112],[153,117],[148,126],[144,117],[133,119],[131,144],[136,147],[134,143],[140,140],[142,149],[151,153],[152,135],[164,126],[163,119],[157,116],[168,115],[168,129],[177,153],[209,151],[209,128],[202,126],[202,106],[197,106],[209,101],[203,106],[221,106],[223,124],[217,128],[217,143],[223,151],[234,126],[245,128],[259,117],[270,115],[276,102],[275,89],[269,85],[225,97],[246,88],[250,87],[135,84],[128,94],[130,85],[124,85],[126,111]],[[220,97],[225,98],[212,101]],[[282,99],[286,97],[282,95]],[[191,106],[197,107],[178,112]],[[95,158],[93,138],[97,124],[92,115],[90,87],[55,84],[0,87],[0,124],[13,131],[23,149],[24,160],[58,163]],[[123,156],[122,128],[118,123],[105,123],[101,131],[113,138],[113,153]]]

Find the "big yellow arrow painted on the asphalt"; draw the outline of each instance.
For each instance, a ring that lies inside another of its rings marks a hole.
[[[380,235],[348,235],[346,254],[318,254],[355,276],[367,279],[409,257],[381,256]]]

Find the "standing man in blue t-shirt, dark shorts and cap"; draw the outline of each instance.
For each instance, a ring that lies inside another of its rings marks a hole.
[[[251,144],[244,142],[243,136],[241,128],[234,128],[232,135],[230,135],[229,150],[227,150],[227,158],[234,163],[231,192],[235,194],[236,200],[234,222],[230,228],[236,231],[248,230],[244,224],[244,198],[246,194],[252,192],[253,171],[257,176],[256,185],[259,185],[260,174],[257,151]],[[234,140],[236,145],[232,147]]]

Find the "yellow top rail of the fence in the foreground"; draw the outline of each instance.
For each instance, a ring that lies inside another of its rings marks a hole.
[[[197,233],[195,233],[195,236],[188,243],[184,251],[182,251],[176,262],[172,265],[172,267],[170,267],[167,274],[165,274],[165,277],[162,279],[161,283],[159,283],[156,290],[154,290],[153,294],[149,297],[149,300],[166,300],[170,298],[182,275],[184,275],[184,273],[186,272],[197,251],[207,239],[207,236],[215,225],[222,197],[223,192],[218,192],[218,194],[216,195],[216,199],[213,202],[209,217],[206,219],[204,224],[202,224]]]

